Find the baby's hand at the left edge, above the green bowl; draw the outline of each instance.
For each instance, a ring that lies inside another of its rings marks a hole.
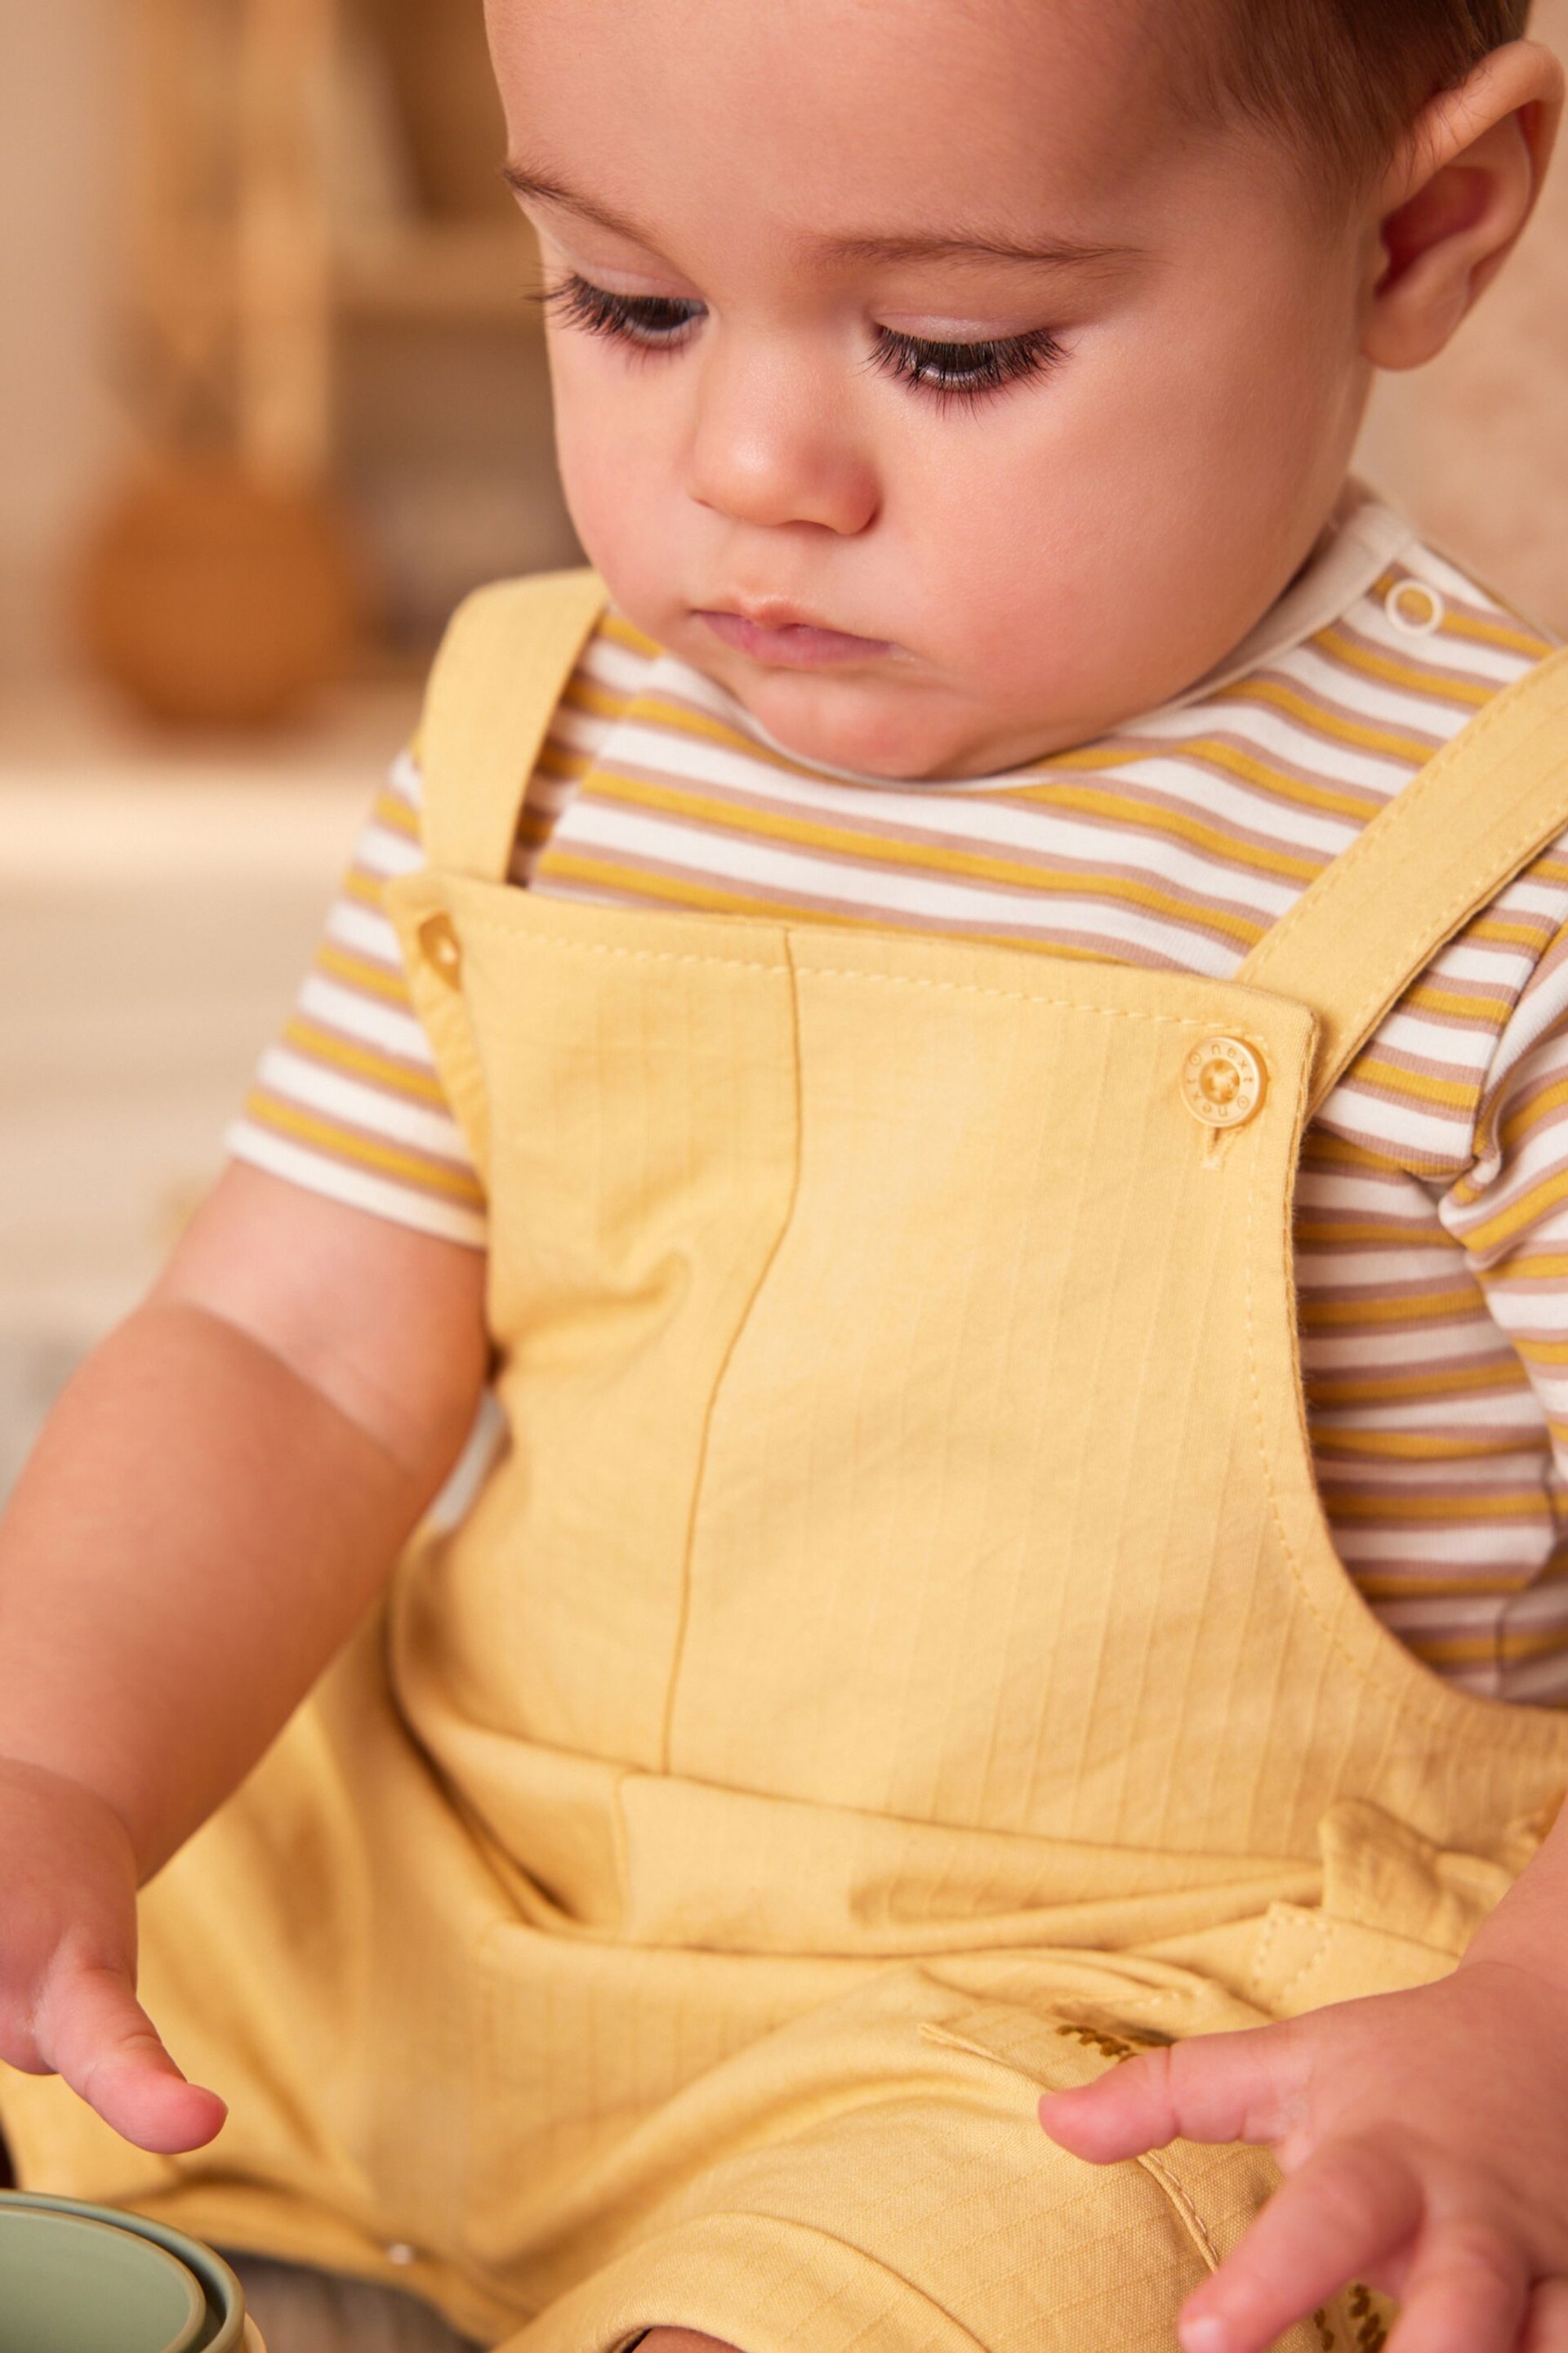
[[[0,2059],[63,2075],[127,2141],[172,2155],[223,2125],[136,2002],[136,1859],[120,1817],[0,1760]]]

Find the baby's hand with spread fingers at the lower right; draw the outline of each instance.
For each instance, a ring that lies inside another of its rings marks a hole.
[[[1399,2299],[1389,2353],[1568,2353],[1568,1981],[1467,1962],[1145,2052],[1039,2115],[1095,2165],[1274,2148],[1288,2179],[1187,2299],[1187,2353],[1262,2353],[1349,2280]]]

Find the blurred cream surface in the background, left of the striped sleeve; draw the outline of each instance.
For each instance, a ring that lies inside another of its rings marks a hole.
[[[221,1165],[407,694],[256,748],[0,713],[0,1492]]]

